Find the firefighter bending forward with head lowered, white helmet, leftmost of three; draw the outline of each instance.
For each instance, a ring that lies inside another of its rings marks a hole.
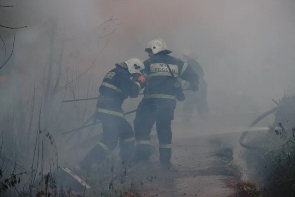
[[[132,126],[123,114],[122,104],[128,96],[136,98],[144,87],[146,78],[140,72],[143,69],[144,64],[140,59],[131,58],[117,63],[116,68],[105,75],[96,104],[96,118],[102,122],[103,138],[78,164],[80,169],[86,170],[93,163],[103,163],[116,148],[119,139],[120,157],[122,162],[128,164],[135,139]]]

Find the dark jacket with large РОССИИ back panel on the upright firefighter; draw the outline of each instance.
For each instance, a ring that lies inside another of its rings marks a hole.
[[[171,101],[176,104],[177,91],[173,87],[175,78],[171,77],[166,64],[169,65],[174,77],[190,82],[192,87],[198,86],[199,75],[187,62],[158,53],[144,61],[144,75],[147,77],[144,98],[167,98],[165,102]]]

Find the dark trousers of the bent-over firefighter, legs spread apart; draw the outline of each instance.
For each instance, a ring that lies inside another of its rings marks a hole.
[[[98,110],[99,111],[99,110]],[[106,157],[116,148],[119,142],[120,157],[122,162],[127,166],[128,160],[134,151],[134,133],[132,126],[125,119],[124,115],[119,112],[113,112],[116,115],[106,114],[112,111],[101,110],[99,119],[102,122],[103,138],[97,145],[85,156],[80,163],[80,167],[87,169],[93,163],[101,164]]]

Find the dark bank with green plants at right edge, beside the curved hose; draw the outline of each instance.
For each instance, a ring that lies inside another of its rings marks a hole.
[[[295,196],[295,96],[285,96],[271,131],[257,135],[250,143],[263,144],[243,154],[250,179],[261,187],[264,196]]]

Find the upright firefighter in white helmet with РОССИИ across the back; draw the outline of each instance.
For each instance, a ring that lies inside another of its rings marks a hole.
[[[144,98],[137,107],[134,120],[136,151],[133,161],[148,160],[151,156],[150,133],[154,123],[159,139],[160,162],[170,164],[171,159],[171,120],[173,120],[176,100],[183,101],[181,79],[191,82],[191,90],[199,88],[199,75],[186,62],[170,56],[163,39],[148,43],[145,49],[149,59],[144,61],[144,75],[147,84]]]

